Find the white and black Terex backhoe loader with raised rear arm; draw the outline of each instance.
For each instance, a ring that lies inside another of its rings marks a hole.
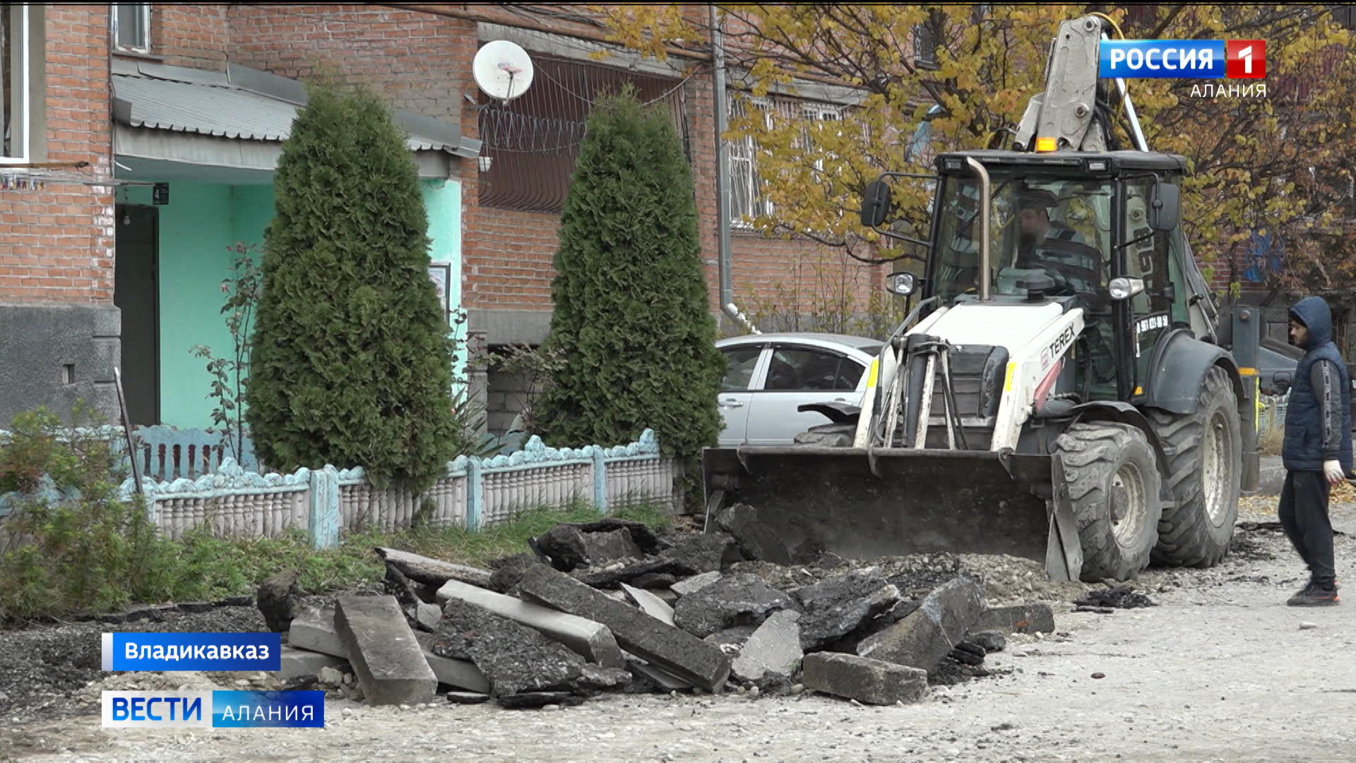
[[[1055,580],[1224,557],[1257,482],[1261,316],[1220,316],[1182,235],[1185,160],[1097,77],[1109,29],[1060,24],[1012,149],[868,186],[862,224],[928,247],[921,278],[891,278],[921,301],[856,405],[803,406],[827,422],[796,445],[704,451],[708,521],[743,502],[792,548],[1012,554]],[[929,239],[883,227],[891,183],[923,179]]]

